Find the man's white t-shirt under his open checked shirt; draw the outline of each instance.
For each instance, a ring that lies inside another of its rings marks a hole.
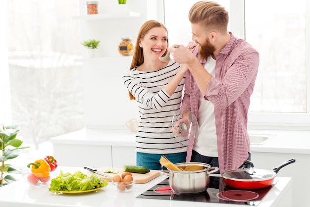
[[[207,58],[205,68],[209,74],[215,74],[215,60]],[[214,105],[205,100],[202,93],[199,96],[198,109],[198,138],[194,144],[194,150],[200,155],[217,157],[217,140],[215,129]]]

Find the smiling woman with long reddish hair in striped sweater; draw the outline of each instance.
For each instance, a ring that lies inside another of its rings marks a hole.
[[[160,22],[145,22],[136,43],[130,70],[122,78],[130,99],[137,100],[141,118],[136,164],[159,170],[161,155],[173,163],[186,160],[187,148],[171,133],[171,123],[180,108],[187,68],[159,60],[168,47],[168,31]]]

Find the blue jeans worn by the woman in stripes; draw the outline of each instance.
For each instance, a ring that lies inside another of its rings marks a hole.
[[[148,153],[137,153],[136,164],[138,166],[145,166],[150,170],[161,170],[161,164],[159,159],[161,155],[164,155],[172,163],[181,163],[186,162],[186,152],[184,153],[175,153],[175,154],[148,154]],[[163,167],[163,169],[167,169]]]

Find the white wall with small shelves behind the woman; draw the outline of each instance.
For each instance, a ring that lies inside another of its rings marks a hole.
[[[85,15],[85,2],[80,0],[81,15]],[[98,39],[101,41],[96,59],[83,62],[85,117],[87,128],[126,128],[125,122],[138,118],[138,106],[130,101],[128,91],[121,78],[129,70],[132,57],[121,56],[118,45],[122,37],[132,37],[136,43],[142,24],[155,19],[163,22],[162,0],[127,0],[126,7],[119,7],[117,0],[99,0],[101,13],[133,11],[141,13],[138,18],[105,19],[81,21],[81,41]],[[86,57],[86,49],[82,54]]]

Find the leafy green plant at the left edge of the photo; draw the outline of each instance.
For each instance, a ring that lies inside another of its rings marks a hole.
[[[4,177],[5,173],[20,173],[20,169],[11,164],[4,164],[4,161],[17,157],[22,149],[29,148],[20,147],[23,142],[16,139],[17,133],[19,132],[17,128],[17,125],[4,127],[4,125],[1,124],[0,126],[0,187],[16,181],[11,175],[6,175]]]

